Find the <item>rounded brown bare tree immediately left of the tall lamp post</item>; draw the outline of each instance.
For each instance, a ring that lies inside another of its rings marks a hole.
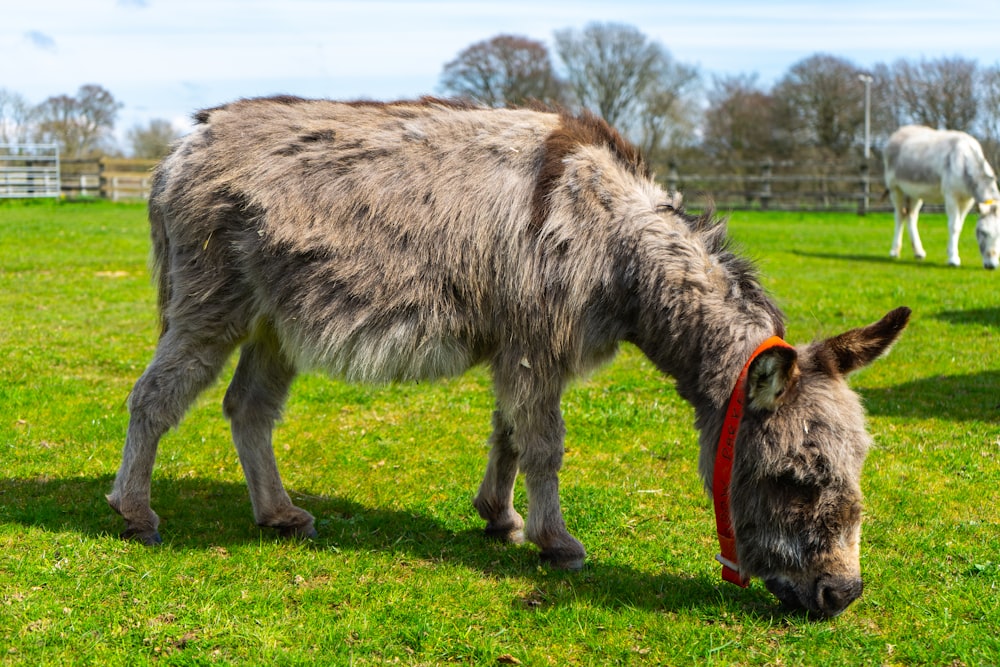
[[[774,87],[778,136],[788,150],[844,158],[861,145],[864,72],[838,56],[816,54],[791,67]]]

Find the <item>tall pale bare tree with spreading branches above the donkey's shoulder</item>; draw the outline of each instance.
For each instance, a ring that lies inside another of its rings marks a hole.
[[[591,23],[555,33],[574,101],[622,130],[653,158],[664,144],[693,136],[694,67],[632,26]],[[677,128],[671,136],[670,128]]]

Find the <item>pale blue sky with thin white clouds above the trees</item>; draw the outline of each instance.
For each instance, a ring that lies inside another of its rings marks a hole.
[[[543,42],[623,23],[713,76],[764,85],[817,53],[866,68],[942,57],[1000,64],[998,0],[0,0],[0,89],[30,104],[98,84],[117,132],[197,109],[293,94],[441,94],[442,67],[498,34]],[[863,88],[859,83],[859,94]],[[878,85],[877,82],[873,85]]]

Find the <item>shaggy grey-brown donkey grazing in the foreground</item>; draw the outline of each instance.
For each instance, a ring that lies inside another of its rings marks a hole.
[[[486,533],[579,568],[559,504],[560,396],[630,341],[694,405],[706,485],[734,384],[746,388],[720,523],[741,580],[826,615],[860,595],[870,438],[844,377],[889,348],[908,309],[760,352],[737,383],[758,344],[783,334],[778,309],[725,227],[676,210],[592,115],[278,97],[196,120],[150,198],[162,334],[108,495],[124,537],[160,541],[157,443],[241,346],[223,409],[261,526],[316,534],[271,446],[299,370],[385,383],[486,363],[496,411],[473,501]],[[527,524],[513,506],[519,471]]]

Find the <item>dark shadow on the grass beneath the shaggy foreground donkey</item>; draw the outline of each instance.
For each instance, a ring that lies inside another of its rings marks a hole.
[[[104,500],[110,488],[110,476],[0,479],[0,523],[118,540],[123,524]],[[773,619],[793,613],[779,607],[761,586],[741,591],[714,577],[648,573],[593,556],[582,572],[551,570],[539,567],[538,551],[533,547],[488,540],[480,529],[449,528],[419,511],[366,507],[338,496],[291,495],[317,518],[319,537],[301,543],[301,548],[331,553],[382,551],[400,559],[457,563],[491,578],[528,580],[532,593],[513,601],[526,608],[555,606],[583,597],[610,608],[697,610],[708,615],[741,609],[747,615]],[[154,480],[153,498],[164,538],[155,549],[164,557],[172,552],[280,541],[270,530],[254,525],[243,484]]]

